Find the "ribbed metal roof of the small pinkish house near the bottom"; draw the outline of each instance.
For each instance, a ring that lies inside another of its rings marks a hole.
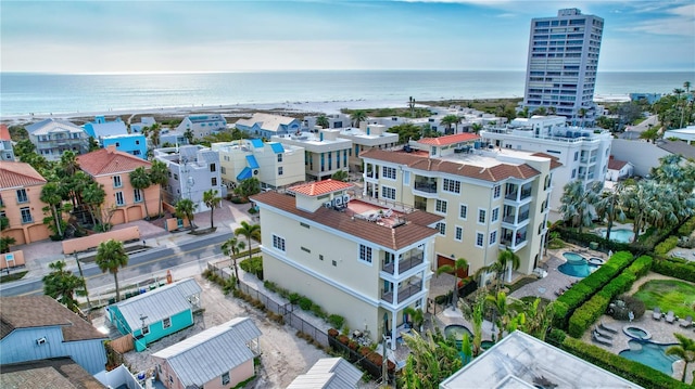
[[[253,359],[247,343],[262,335],[250,317],[236,317],[152,354],[168,362],[184,387],[204,384]]]

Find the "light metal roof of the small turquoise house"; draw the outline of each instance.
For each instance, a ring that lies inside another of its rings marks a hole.
[[[189,297],[200,294],[201,290],[195,280],[186,278],[113,306],[118,307],[130,330],[135,330],[142,327],[143,323],[144,325],[157,323],[191,309]]]

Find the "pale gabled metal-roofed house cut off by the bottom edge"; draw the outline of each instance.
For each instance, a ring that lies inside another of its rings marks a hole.
[[[362,372],[342,358],[323,358],[312,368],[294,378],[287,389],[357,388]]]

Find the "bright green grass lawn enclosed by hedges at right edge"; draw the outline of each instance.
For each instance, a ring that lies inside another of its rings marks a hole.
[[[652,280],[640,287],[634,297],[647,309],[660,307],[661,312],[673,311],[679,317],[695,316],[695,285],[677,280]]]

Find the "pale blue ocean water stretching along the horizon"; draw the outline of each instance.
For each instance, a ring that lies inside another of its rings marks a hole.
[[[0,116],[326,101],[520,98],[525,72],[0,73]],[[598,73],[597,96],[667,93],[691,73]],[[695,81],[695,80],[692,80]]]

